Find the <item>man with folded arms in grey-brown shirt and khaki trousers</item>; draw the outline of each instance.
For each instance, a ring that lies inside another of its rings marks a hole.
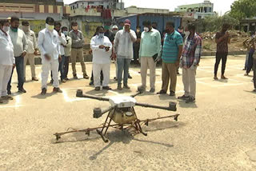
[[[72,62],[72,70],[73,77],[78,79],[77,70],[75,68],[77,58],[82,66],[83,78],[89,79],[86,74],[86,65],[83,58],[83,45],[85,44],[85,38],[82,34],[82,31],[78,30],[78,22],[71,22],[72,30],[70,31],[70,38],[72,39],[71,46],[71,62]]]

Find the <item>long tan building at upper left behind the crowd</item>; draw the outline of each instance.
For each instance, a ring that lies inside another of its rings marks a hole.
[[[16,16],[28,20],[36,34],[45,28],[48,16],[56,21],[70,15],[70,7],[63,0],[0,0],[0,18]]]

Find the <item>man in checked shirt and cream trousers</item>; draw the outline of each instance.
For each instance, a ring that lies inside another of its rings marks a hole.
[[[186,100],[186,103],[195,101],[196,82],[195,75],[201,58],[202,38],[195,32],[194,24],[189,24],[190,35],[186,38],[182,51],[182,82],[184,85],[184,95],[178,99]]]

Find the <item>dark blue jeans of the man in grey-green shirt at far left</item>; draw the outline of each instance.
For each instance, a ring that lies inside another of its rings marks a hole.
[[[23,89],[24,85],[24,58],[22,56],[15,57],[16,71],[18,75],[18,89]],[[7,89],[11,89],[11,78],[13,77],[14,70],[11,73],[10,80],[7,85]]]

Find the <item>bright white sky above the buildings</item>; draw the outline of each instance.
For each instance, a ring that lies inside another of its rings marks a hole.
[[[66,4],[76,1],[77,0],[64,0]],[[142,8],[169,9],[171,11],[174,11],[177,6],[200,3],[203,1],[204,0],[122,0],[122,2],[125,2],[125,7],[137,6]],[[214,3],[214,11],[221,15],[230,10],[230,6],[234,1],[235,0],[210,0],[210,2]]]

